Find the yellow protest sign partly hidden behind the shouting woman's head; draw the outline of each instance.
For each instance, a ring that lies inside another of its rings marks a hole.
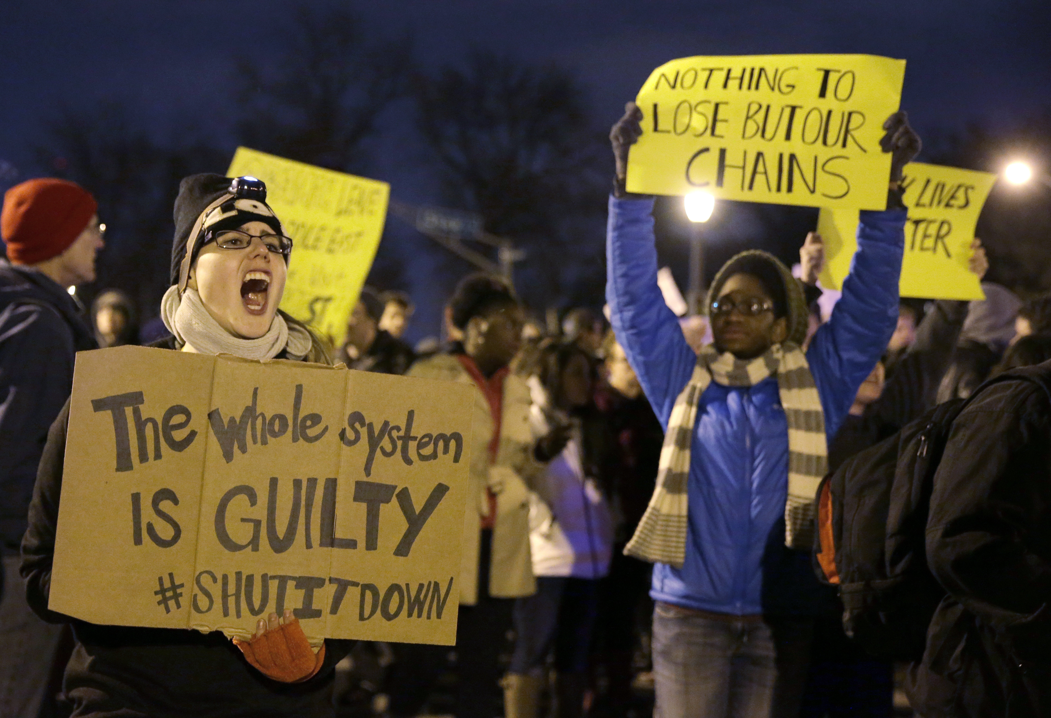
[[[376,255],[390,185],[247,147],[227,175],[266,182],[267,204],[292,238],[281,308],[338,344]]]

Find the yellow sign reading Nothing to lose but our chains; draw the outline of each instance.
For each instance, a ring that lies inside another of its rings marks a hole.
[[[627,191],[882,208],[905,61],[870,55],[693,57],[639,90]]]

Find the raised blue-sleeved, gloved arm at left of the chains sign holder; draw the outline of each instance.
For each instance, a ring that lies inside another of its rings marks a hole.
[[[676,397],[689,379],[697,354],[657,286],[653,198],[624,192],[627,150],[642,134],[641,111],[627,103],[610,132],[617,179],[606,226],[606,285],[611,321],[628,363],[666,427]]]

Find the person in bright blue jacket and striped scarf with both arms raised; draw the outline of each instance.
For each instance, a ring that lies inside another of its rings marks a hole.
[[[843,299],[805,353],[800,285],[772,255],[751,251],[716,275],[715,344],[698,355],[657,286],[653,199],[624,190],[641,119],[628,103],[610,136],[606,299],[666,433],[657,490],[626,549],[656,563],[657,715],[794,715],[812,638],[812,621],[794,616],[812,615],[803,577],[813,490],[827,440],[898,322],[906,221],[898,182],[920,141],[904,112],[884,124],[888,208],[861,212]]]

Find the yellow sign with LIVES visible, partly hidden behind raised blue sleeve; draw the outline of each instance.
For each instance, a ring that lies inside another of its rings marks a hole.
[[[902,263],[902,296],[981,300],[978,278],[967,268],[978,214],[995,175],[921,162],[905,166],[902,186],[909,208]],[[858,250],[858,210],[822,208],[818,233],[825,241],[821,286],[842,289]]]

